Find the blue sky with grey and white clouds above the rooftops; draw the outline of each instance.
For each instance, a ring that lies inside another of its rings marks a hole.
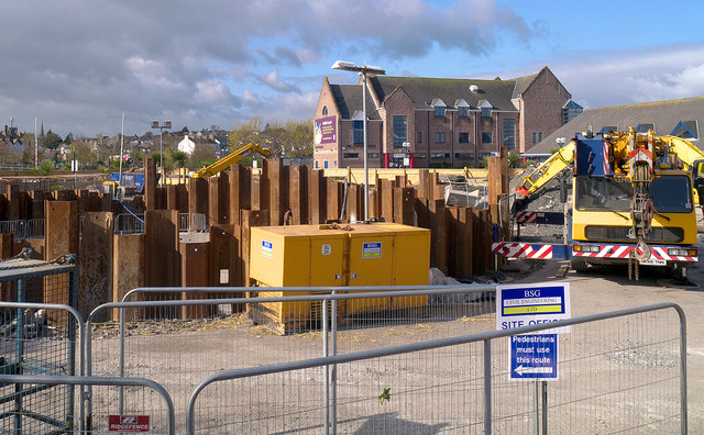
[[[0,14],[0,125],[64,136],[314,118],[337,59],[389,76],[548,66],[585,109],[704,96],[704,2],[23,0]]]

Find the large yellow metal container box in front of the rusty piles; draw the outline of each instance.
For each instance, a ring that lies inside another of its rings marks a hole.
[[[429,230],[394,223],[343,227],[348,230],[321,230],[318,225],[252,227],[250,277],[261,287],[428,285]],[[280,295],[282,292],[260,294]],[[365,298],[339,303],[338,314],[361,315],[427,303],[427,295]],[[320,306],[307,302],[250,306],[255,321],[270,321],[270,325],[273,322],[280,333],[319,319],[319,310]]]

